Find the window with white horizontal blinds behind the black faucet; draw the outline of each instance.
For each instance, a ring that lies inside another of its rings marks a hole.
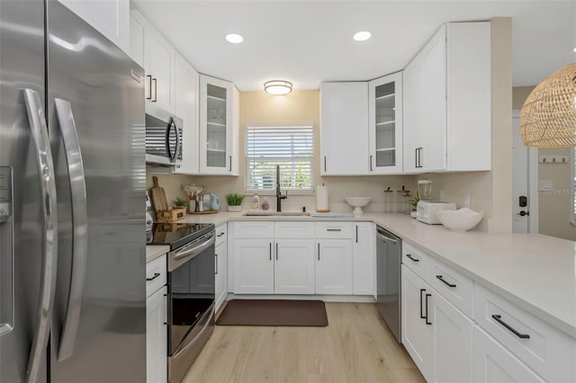
[[[246,192],[275,191],[276,165],[282,191],[313,192],[314,129],[247,126]]]

